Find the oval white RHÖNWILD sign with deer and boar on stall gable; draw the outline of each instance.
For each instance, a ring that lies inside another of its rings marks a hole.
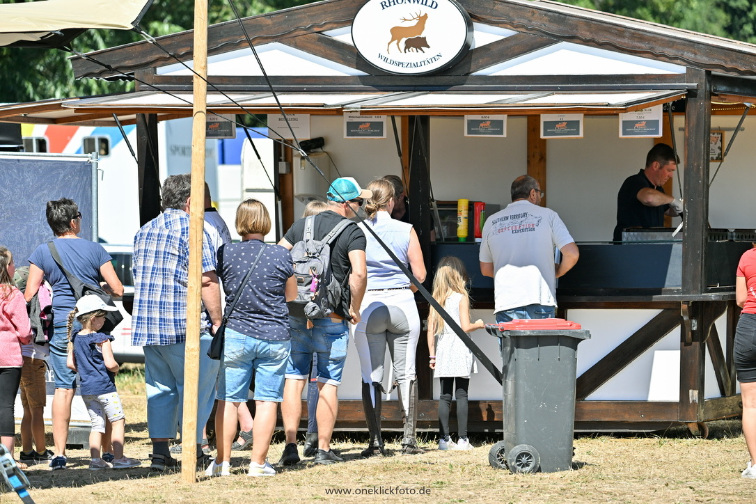
[[[368,0],[352,21],[352,41],[380,70],[434,73],[469,51],[472,22],[454,0]]]

